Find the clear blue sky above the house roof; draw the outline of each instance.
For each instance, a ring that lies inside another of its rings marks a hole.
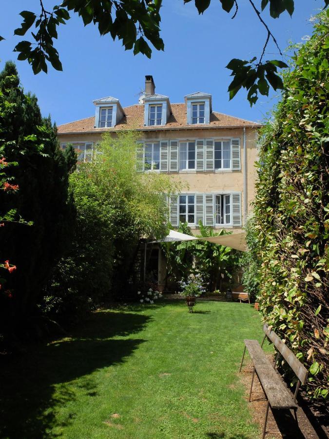
[[[51,7],[57,0],[46,0]],[[161,36],[165,51],[153,50],[151,60],[143,55],[134,57],[125,51],[121,42],[111,37],[100,37],[92,24],[83,26],[82,20],[73,19],[61,26],[55,46],[63,64],[63,72],[49,68],[35,76],[26,61],[17,61],[24,89],[35,93],[43,115],[51,114],[57,124],[92,116],[93,100],[105,96],[118,98],[122,106],[138,102],[138,93],[144,87],[145,75],[153,75],[156,92],[167,95],[172,103],[183,102],[184,96],[196,91],[213,96],[213,110],[248,120],[261,121],[276,100],[273,92],[260,97],[250,108],[245,91],[229,101],[227,88],[232,78],[225,68],[232,58],[251,59],[260,55],[266,31],[254,14],[250,3],[239,0],[236,18],[222,10],[220,2],[212,0],[210,8],[199,16],[194,1],[184,5],[183,0],[163,0],[161,9]],[[255,0],[255,4],[260,0]],[[310,16],[323,7],[322,0],[295,0],[295,12],[290,18],[284,13],[273,20],[262,14],[283,51],[289,41],[301,42],[310,35]],[[13,36],[20,25],[22,10],[39,12],[39,1],[16,0],[2,5],[0,35],[0,68],[4,61],[16,60],[12,52],[22,37]],[[27,37],[27,38],[25,38]],[[30,40],[26,34],[24,39]],[[270,43],[265,59],[280,59],[276,47]]]

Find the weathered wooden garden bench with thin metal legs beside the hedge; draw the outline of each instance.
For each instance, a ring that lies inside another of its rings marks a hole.
[[[243,356],[240,365],[240,372],[243,364],[243,359],[246,353],[246,349],[248,349],[249,355],[252,359],[253,363],[253,373],[252,373],[252,384],[255,373],[259,379],[259,382],[262,386],[262,389],[266,395],[268,400],[266,415],[264,421],[263,428],[263,439],[266,433],[266,424],[267,418],[269,414],[269,406],[271,409],[292,409],[295,414],[295,419],[298,425],[297,420],[297,404],[296,398],[299,387],[301,384],[305,384],[308,371],[303,366],[303,364],[294,356],[294,354],[290,351],[288,346],[272,331],[267,324],[263,326],[263,330],[265,332],[265,337],[263,339],[262,345],[258,343],[257,340],[244,340],[245,349],[243,351]],[[276,359],[274,362],[274,367],[271,361],[266,357],[262,347],[266,337],[274,344],[275,349],[277,350]],[[295,394],[292,397],[291,392],[288,390],[286,385],[283,383],[281,376],[276,372],[275,367],[279,360],[279,357],[282,357],[291,367],[296,377],[298,378],[298,382],[296,385]],[[249,402],[252,396],[252,385],[250,388],[249,394]]]

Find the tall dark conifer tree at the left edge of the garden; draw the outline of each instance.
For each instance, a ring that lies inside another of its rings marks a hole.
[[[9,325],[15,332],[36,316],[50,271],[70,244],[75,212],[68,176],[75,160],[71,150],[59,149],[56,126],[50,117],[41,117],[36,96],[24,93],[11,61],[0,73],[0,93],[0,146],[6,160],[18,163],[7,173],[19,185],[15,194],[0,191],[0,215],[16,208],[18,216],[33,222],[11,222],[0,229],[0,260],[17,266],[6,284],[11,300],[0,299],[0,332]]]

